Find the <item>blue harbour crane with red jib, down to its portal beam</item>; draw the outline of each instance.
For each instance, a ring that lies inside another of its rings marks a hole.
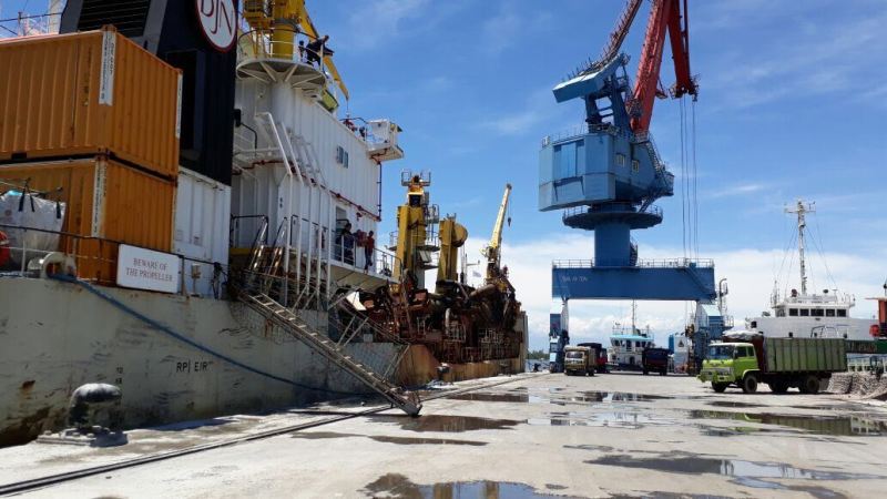
[[[674,175],[653,145],[649,129],[666,32],[676,83],[673,98],[699,92],[690,72],[686,0],[651,0],[638,75],[632,86],[622,42],[642,0],[629,0],[609,41],[553,89],[558,102],[582,99],[587,130],[546,138],[540,152],[539,208],[568,208],[567,226],[594,231],[594,259],[552,269],[552,295],[570,298],[710,301],[714,267],[686,259],[638,265],[631,231],[662,223],[653,203],[674,194]],[[663,268],[664,267],[664,268]]]

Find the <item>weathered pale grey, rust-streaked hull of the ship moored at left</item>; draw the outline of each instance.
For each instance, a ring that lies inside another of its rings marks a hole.
[[[71,393],[86,383],[122,388],[120,408],[128,428],[369,394],[351,375],[242,304],[100,289],[204,349],[163,333],[83,287],[49,279],[0,278],[0,447],[63,428]],[[310,318],[310,314],[306,316]],[[318,314],[314,319],[324,323],[326,316]],[[355,343],[346,348],[368,365],[379,359],[384,363],[396,353],[389,343]],[[418,386],[440,377],[440,363],[427,348],[409,348],[395,380]],[[453,365],[442,378],[517,373],[522,370],[519,363]]]

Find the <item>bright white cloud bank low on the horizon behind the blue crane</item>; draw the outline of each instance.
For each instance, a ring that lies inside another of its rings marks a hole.
[[[469,238],[466,247],[470,261],[477,261],[479,248],[485,241]],[[542,348],[547,344],[551,299],[551,261],[588,259],[592,256],[594,240],[581,233],[548,234],[524,244],[504,244],[502,262],[508,265],[518,299],[529,315],[530,346]],[[877,247],[877,246],[875,246]],[[880,246],[881,248],[885,245]],[[680,248],[653,247],[642,245],[642,258],[670,258],[679,256]],[[871,302],[863,297],[883,293],[885,268],[883,262],[887,249],[863,255],[849,253],[827,253],[825,262],[837,281],[840,292],[852,293],[859,298],[854,316],[870,317],[875,313]],[[768,307],[774,278],[779,271],[785,253],[782,248],[768,251],[734,248],[723,252],[702,252],[703,257],[715,262],[716,279],[727,278],[728,313],[741,325],[745,317],[759,315]],[[797,257],[788,268],[788,258],[783,265],[781,293],[798,287]],[[827,271],[817,254],[808,253],[810,289],[835,287],[827,277]],[[656,339],[664,344],[669,334],[683,330],[685,310],[693,312],[693,304],[684,302],[639,302],[638,320],[640,327],[649,325]],[[570,330],[573,343],[580,340],[605,340],[613,323],[631,322],[631,304],[625,301],[574,301],[570,303]]]

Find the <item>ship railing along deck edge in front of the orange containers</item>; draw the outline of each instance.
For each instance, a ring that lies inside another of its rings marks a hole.
[[[213,275],[210,278],[212,297],[218,299],[225,295],[224,282],[227,279],[230,271],[227,262],[212,262],[108,237],[84,236],[64,231],[24,225],[0,223],[0,231],[9,238],[8,245],[3,246],[9,253],[7,261],[0,263],[0,276],[40,277],[42,259],[51,253],[61,253],[73,258],[78,278],[103,286],[116,287],[118,255],[120,246],[126,245],[179,258],[176,293],[183,296],[203,296],[197,289],[197,279],[201,278],[200,274],[202,273],[192,271],[190,275],[186,274],[187,264],[191,263],[212,267]],[[0,253],[0,255],[3,253]],[[0,261],[2,259],[0,258]]]

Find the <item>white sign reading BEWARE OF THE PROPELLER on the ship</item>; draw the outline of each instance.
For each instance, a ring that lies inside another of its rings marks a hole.
[[[118,285],[179,293],[180,266],[175,255],[121,244],[118,254]]]

